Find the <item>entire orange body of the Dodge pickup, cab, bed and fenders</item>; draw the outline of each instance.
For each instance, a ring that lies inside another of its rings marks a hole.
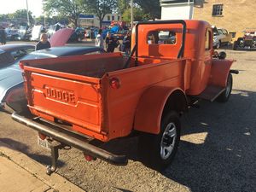
[[[134,129],[157,134],[163,108],[174,90],[185,98],[198,95],[208,84],[224,86],[232,63],[212,60],[212,31],[207,22],[185,22],[181,59],[177,55],[182,25],[143,24],[138,26],[138,57],[131,57],[129,67],[119,53],[21,61],[28,107],[37,116],[67,121],[73,131],[104,142],[128,136]],[[148,44],[148,32],[155,30],[174,30],[176,44]]]

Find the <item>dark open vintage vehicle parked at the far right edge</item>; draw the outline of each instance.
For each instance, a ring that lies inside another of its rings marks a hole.
[[[255,49],[256,48],[256,29],[247,29],[242,38],[237,38],[233,44],[233,49]]]

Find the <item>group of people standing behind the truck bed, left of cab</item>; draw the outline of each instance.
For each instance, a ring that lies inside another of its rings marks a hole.
[[[131,32],[127,32],[123,43],[120,44],[117,38],[113,38],[111,32],[107,33],[105,38],[106,50],[108,53],[113,53],[115,48],[119,47],[119,50],[125,52],[125,55],[130,55],[131,52]],[[99,30],[96,36],[96,47],[104,49],[104,39],[102,38],[102,29]]]

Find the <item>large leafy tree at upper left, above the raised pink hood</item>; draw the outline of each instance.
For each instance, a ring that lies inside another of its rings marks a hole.
[[[74,26],[79,24],[79,15],[84,13],[84,0],[43,0],[47,15],[67,17]]]

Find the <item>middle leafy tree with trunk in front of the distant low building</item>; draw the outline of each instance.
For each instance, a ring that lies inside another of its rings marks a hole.
[[[102,20],[107,14],[113,12],[117,6],[117,0],[84,0],[88,11],[95,14],[100,20],[100,27],[102,27]]]

